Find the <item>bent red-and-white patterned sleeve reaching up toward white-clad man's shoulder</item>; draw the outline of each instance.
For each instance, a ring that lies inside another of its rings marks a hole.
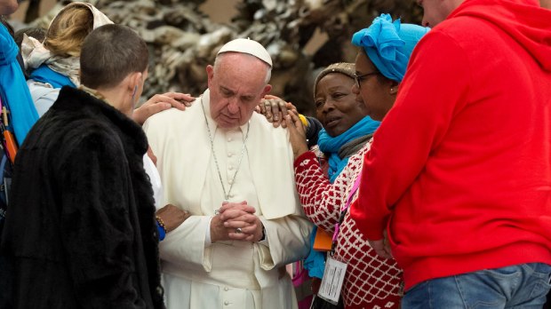
[[[300,203],[315,226],[332,233],[339,220],[340,207],[347,198],[347,190],[354,183],[362,167],[361,157],[364,149],[350,157],[347,166],[331,184],[323,175],[317,157],[311,151],[300,155],[294,162],[295,179],[299,191]]]

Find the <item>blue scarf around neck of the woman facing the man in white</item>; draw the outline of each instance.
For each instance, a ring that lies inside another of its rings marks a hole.
[[[339,157],[339,149],[352,139],[361,138],[371,134],[379,128],[380,122],[372,120],[370,116],[363,117],[362,120],[355,123],[344,133],[331,138],[327,131],[323,129],[319,133],[317,145],[324,154],[329,154],[329,181],[331,183],[339,176],[340,172],[347,166],[348,158]]]

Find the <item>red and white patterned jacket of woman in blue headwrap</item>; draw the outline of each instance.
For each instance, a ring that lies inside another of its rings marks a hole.
[[[332,234],[339,221],[340,208],[347,202],[355,178],[362,170],[367,143],[352,155],[344,170],[331,184],[323,174],[315,153],[308,151],[294,162],[300,202],[307,217],[315,226]],[[355,197],[356,198],[356,197]],[[394,260],[377,256],[367,239],[355,226],[349,212],[340,226],[333,258],[347,263],[342,297],[347,308],[399,308],[402,271]]]

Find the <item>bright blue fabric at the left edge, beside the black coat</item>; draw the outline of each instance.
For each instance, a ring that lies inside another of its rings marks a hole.
[[[0,25],[0,97],[4,106],[10,109],[10,125],[21,145],[38,120],[38,113],[17,61],[18,54],[19,48],[8,29]]]

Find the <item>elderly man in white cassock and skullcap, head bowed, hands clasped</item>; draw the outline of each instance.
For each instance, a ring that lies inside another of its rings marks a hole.
[[[287,131],[254,113],[271,67],[262,45],[233,40],[206,67],[208,90],[192,107],[144,124],[163,204],[192,215],[160,243],[169,309],[297,307],[284,265],[307,255],[312,226]]]

